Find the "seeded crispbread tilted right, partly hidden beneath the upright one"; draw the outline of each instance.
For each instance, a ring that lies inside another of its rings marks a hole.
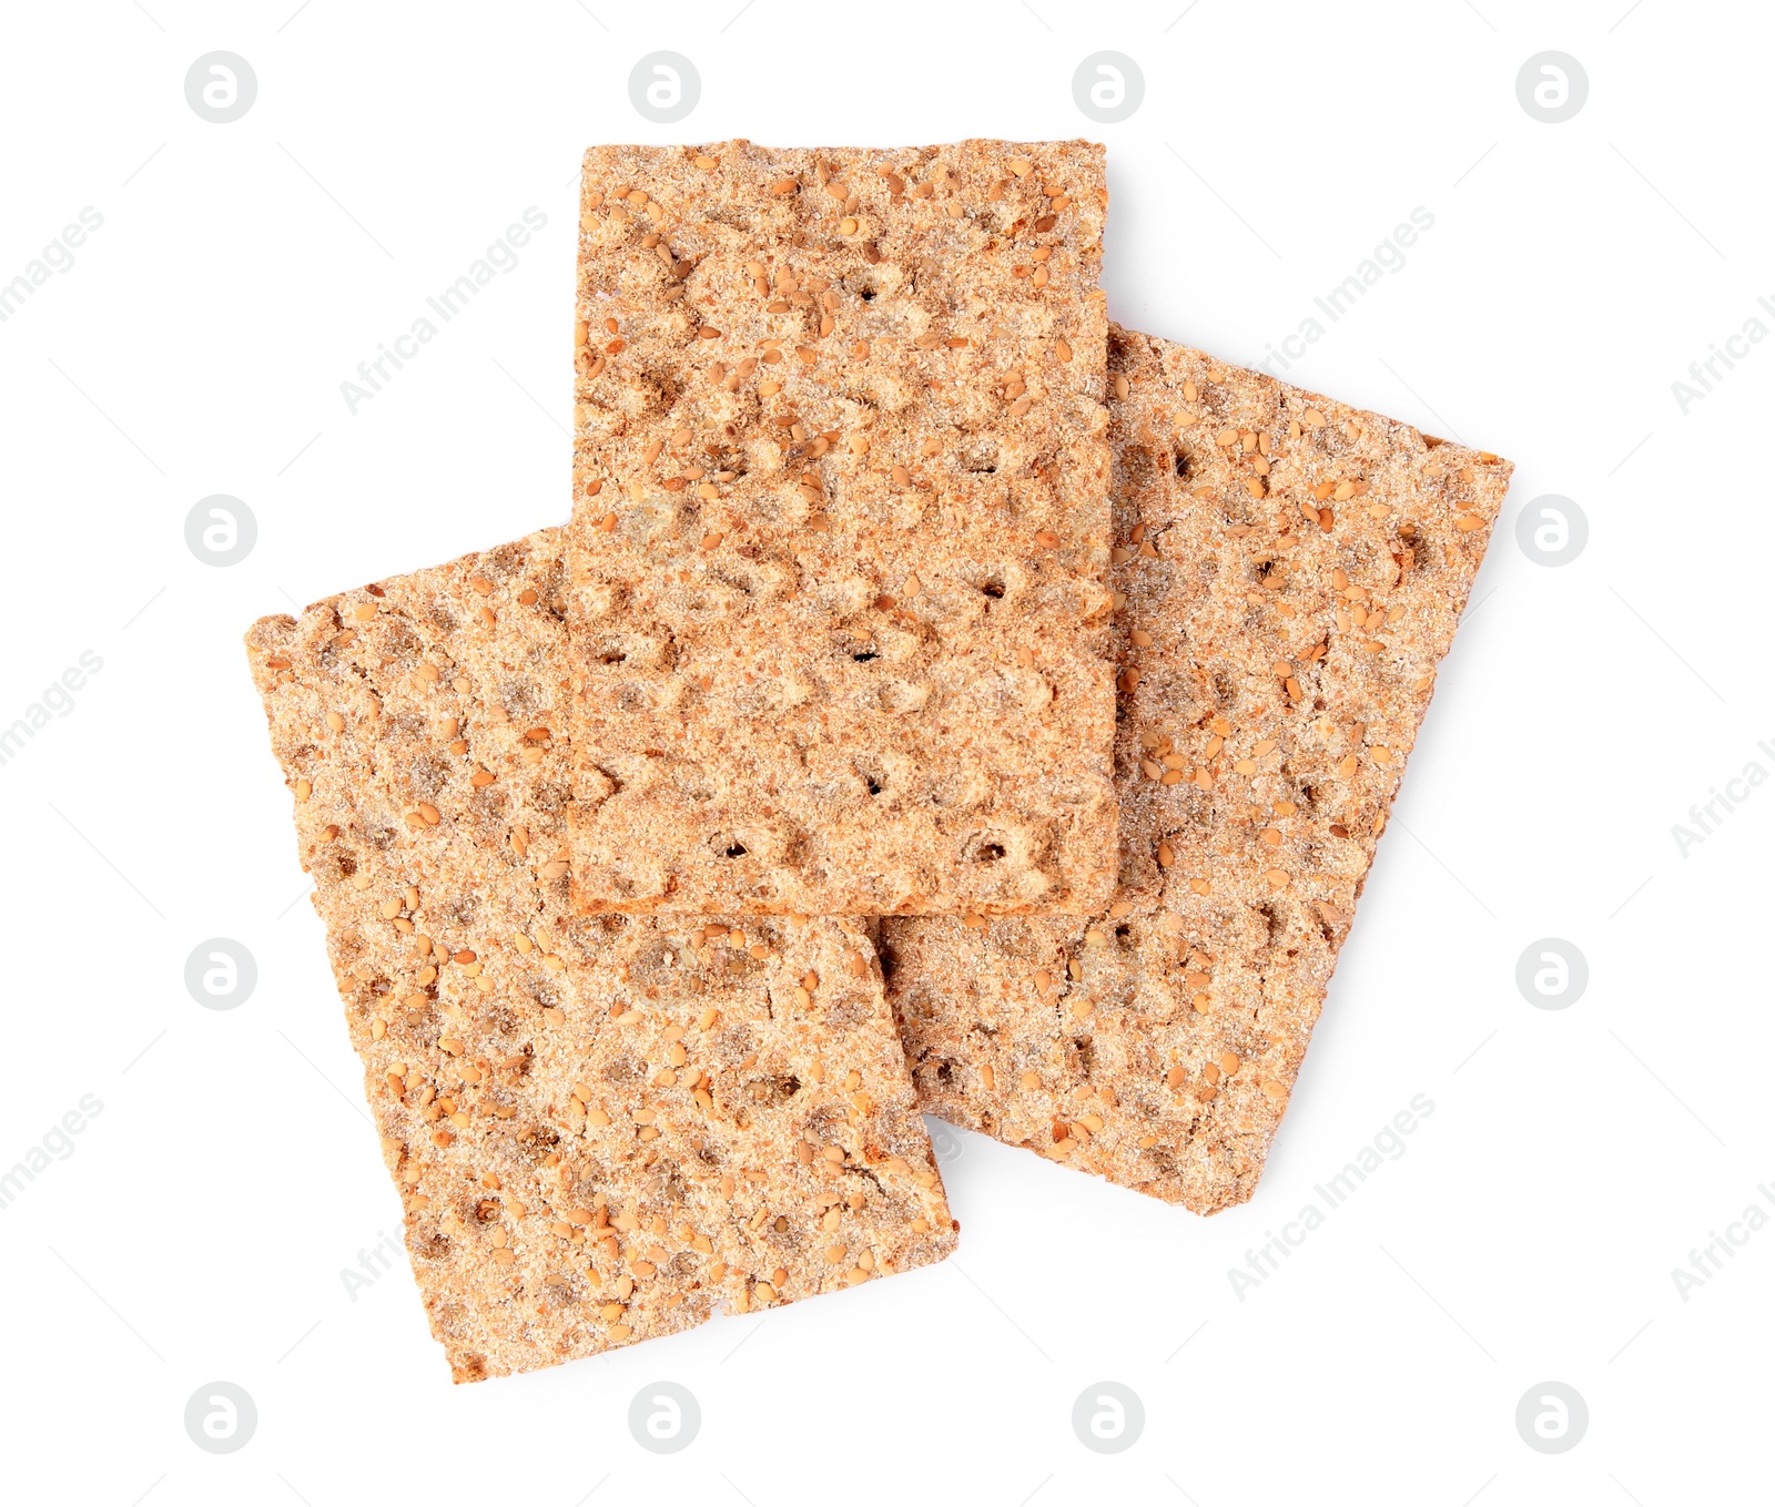
[[[1257,1186],[1511,465],[1152,335],[1109,373],[1116,900],[880,943],[928,1111],[1209,1214]]]

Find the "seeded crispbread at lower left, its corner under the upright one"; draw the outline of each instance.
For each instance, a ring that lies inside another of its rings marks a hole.
[[[861,923],[570,914],[563,589],[545,531],[247,634],[456,1381],[955,1244]]]

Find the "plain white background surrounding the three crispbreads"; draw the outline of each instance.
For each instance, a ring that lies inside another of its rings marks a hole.
[[[103,659],[0,767],[0,1168],[103,1102],[0,1209],[5,1496],[1766,1491],[1775,1232],[1686,1301],[1670,1274],[1775,1179],[1775,788],[1686,857],[1670,831],[1747,761],[1775,770],[1775,343],[1686,415],[1670,391],[1775,296],[1766,11],[296,4],[5,11],[0,279],[103,215],[0,325],[0,724]],[[259,82],[233,124],[183,92],[218,48]],[[659,48],[701,71],[680,126],[628,101]],[[1147,98],[1097,126],[1070,78],[1106,48]],[[1548,48],[1590,82],[1553,126],[1514,89]],[[357,1301],[339,1276],[399,1211],[240,634],[564,517],[579,154],[728,135],[1106,140],[1111,314],[1246,362],[1424,206],[1406,266],[1289,376],[1507,454],[1516,486],[1250,1205],[1202,1221],[960,1136],[955,1262],[451,1388],[405,1267]],[[339,383],[527,206],[547,227],[520,264],[351,415]],[[185,545],[217,492],[259,522],[233,568]],[[1542,493],[1590,520],[1564,568],[1511,527]],[[183,985],[213,935],[257,959],[233,1012]],[[1514,983],[1546,935],[1590,966],[1560,1012]],[[1436,1108],[1406,1154],[1241,1301],[1228,1267],[1415,1093]],[[183,1427],[215,1379],[259,1409],[238,1454]],[[703,1409],[671,1457],[627,1427],[657,1379]],[[1120,1456],[1070,1427],[1102,1379],[1145,1404]],[[1548,1379],[1590,1411],[1562,1456],[1514,1424]]]

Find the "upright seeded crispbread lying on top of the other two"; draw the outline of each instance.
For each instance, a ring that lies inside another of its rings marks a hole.
[[[580,909],[1108,903],[1106,201],[1088,142],[586,154]]]

